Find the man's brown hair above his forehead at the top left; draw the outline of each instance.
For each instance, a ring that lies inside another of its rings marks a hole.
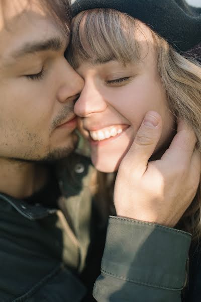
[[[18,0],[19,3],[21,0]],[[36,0],[38,6],[42,8],[47,15],[51,16],[60,28],[69,35],[71,28],[71,9],[69,0]],[[27,0],[27,6],[31,7],[32,0]],[[5,17],[8,0],[0,0],[0,10],[3,10]]]

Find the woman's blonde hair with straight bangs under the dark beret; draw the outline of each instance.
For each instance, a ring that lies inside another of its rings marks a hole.
[[[122,64],[139,62],[140,43],[135,39],[141,30],[139,21],[112,9],[83,11],[73,20],[72,41],[67,58],[74,68],[88,60],[117,59]],[[156,53],[158,77],[164,87],[168,109],[185,120],[197,137],[201,153],[201,66],[196,58],[177,53],[163,38],[150,29]],[[141,30],[142,32],[142,30]],[[201,236],[201,186],[179,221],[178,227]]]

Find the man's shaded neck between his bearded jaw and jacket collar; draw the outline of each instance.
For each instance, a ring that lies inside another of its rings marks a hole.
[[[26,198],[47,182],[48,171],[37,163],[0,159],[0,192],[15,198]]]

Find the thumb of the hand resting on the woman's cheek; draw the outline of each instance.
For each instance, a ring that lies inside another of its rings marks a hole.
[[[135,169],[146,169],[162,132],[162,120],[155,111],[147,112],[128,152],[128,157]]]

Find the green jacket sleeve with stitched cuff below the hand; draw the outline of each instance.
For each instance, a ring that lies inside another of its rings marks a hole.
[[[110,216],[98,302],[180,302],[191,235],[155,223]]]

